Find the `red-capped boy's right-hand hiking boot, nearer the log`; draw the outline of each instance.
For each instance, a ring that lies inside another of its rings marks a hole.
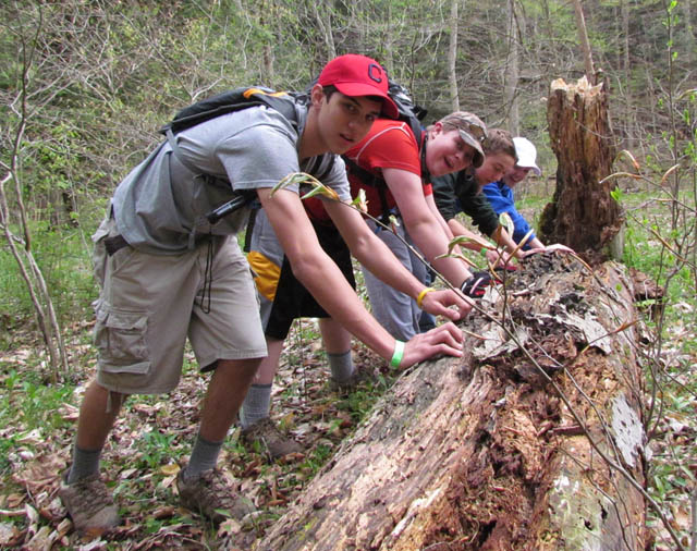
[[[186,468],[176,476],[179,499],[186,509],[200,513],[213,523],[222,523],[228,518],[241,521],[245,515],[254,513],[249,500],[236,495],[225,479],[222,470],[211,468],[200,476],[187,480]]]

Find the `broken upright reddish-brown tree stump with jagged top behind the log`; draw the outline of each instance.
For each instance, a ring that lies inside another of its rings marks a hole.
[[[563,243],[588,261],[622,256],[623,217],[611,197],[615,157],[606,85],[559,78],[551,84],[547,121],[557,155],[557,189],[540,219],[546,243]]]

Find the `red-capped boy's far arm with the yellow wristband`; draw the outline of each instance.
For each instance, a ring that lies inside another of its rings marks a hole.
[[[380,281],[414,299],[417,299],[425,285],[408,271],[394,256],[390,247],[376,236],[363,217],[352,207],[339,201],[325,201],[325,208],[332,222],[348,245],[351,254]],[[452,291],[428,293],[421,298],[425,310],[435,316],[447,316],[452,320],[465,316],[472,305]],[[456,311],[448,306],[456,306]]]

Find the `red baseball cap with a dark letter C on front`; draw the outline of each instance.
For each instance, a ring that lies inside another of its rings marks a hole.
[[[380,63],[366,56],[346,53],[325,65],[317,79],[322,86],[335,86],[345,96],[378,96],[382,98],[382,112],[396,119],[396,105],[388,95],[388,73]]]

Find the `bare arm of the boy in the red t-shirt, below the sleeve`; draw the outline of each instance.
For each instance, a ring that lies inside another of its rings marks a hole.
[[[402,220],[417,248],[453,285],[460,287],[472,273],[457,258],[439,258],[448,253],[449,238],[424,196],[421,179],[401,169],[383,169],[382,176],[400,208]]]

